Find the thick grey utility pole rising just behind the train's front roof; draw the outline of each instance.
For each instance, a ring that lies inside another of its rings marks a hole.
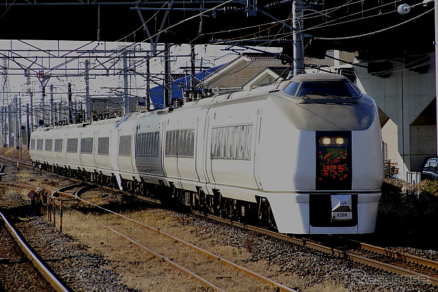
[[[295,0],[292,3],[292,23],[293,23],[293,41],[294,41],[294,76],[300,75],[304,72],[304,48],[302,42],[302,14],[303,14],[302,0]]]

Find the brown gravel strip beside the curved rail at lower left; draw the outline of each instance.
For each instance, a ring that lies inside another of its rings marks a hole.
[[[14,175],[10,174],[8,179]],[[16,181],[19,180],[16,177]],[[108,261],[102,255],[88,252],[87,246],[60,233],[59,228],[47,222],[21,194],[4,192],[0,208],[11,217],[11,222],[29,245],[72,291],[137,291],[121,284],[123,277],[105,268]],[[16,291],[30,290],[20,287]]]

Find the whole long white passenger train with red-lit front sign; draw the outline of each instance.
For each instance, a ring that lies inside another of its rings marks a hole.
[[[373,233],[384,176],[376,104],[327,73],[40,127],[30,154],[53,172],[292,234]]]

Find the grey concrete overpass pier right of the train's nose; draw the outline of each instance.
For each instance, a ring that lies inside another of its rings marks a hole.
[[[428,59],[430,57],[425,62]],[[424,109],[435,98],[435,64],[430,62],[423,66],[426,72],[420,74],[407,70],[402,62],[385,62],[391,66],[391,70],[387,71],[389,74],[385,76],[387,78],[373,76],[368,68],[355,66],[357,85],[374,98],[378,107],[396,125],[391,131],[383,131],[383,140],[397,133],[397,149],[388,149],[391,151],[388,156],[399,157],[400,173],[418,171],[424,157],[437,153],[436,117],[424,119],[429,121],[425,124],[417,119],[424,115]],[[374,71],[373,74],[378,72]],[[432,123],[430,118],[433,118]],[[415,126],[411,125],[415,120]]]

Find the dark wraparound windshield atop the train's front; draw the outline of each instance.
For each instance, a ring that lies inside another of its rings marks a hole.
[[[285,92],[297,98],[312,98],[322,96],[324,98],[359,98],[361,92],[350,81],[304,81],[298,91],[296,88],[288,90],[289,86],[296,87],[296,83],[290,83]]]

